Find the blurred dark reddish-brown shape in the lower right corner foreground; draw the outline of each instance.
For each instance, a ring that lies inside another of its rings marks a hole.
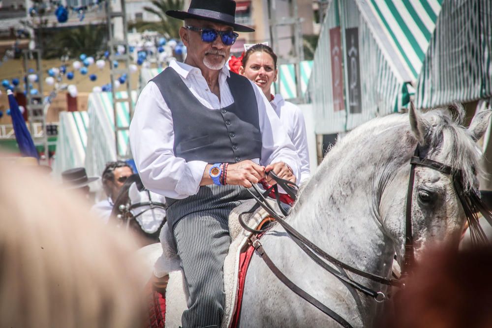
[[[382,327],[492,327],[491,245],[427,253]]]

